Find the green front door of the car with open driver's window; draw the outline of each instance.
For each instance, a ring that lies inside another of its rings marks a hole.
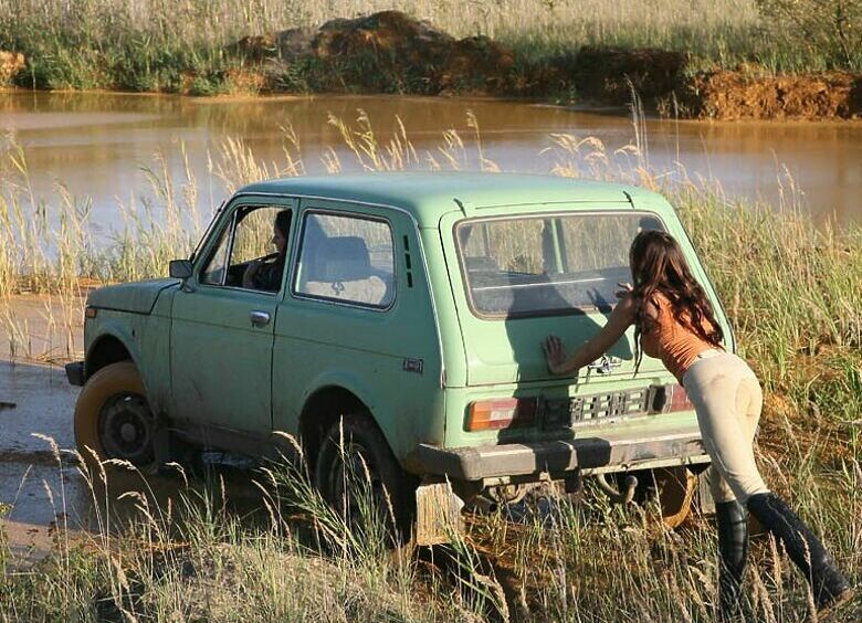
[[[244,284],[250,262],[272,251],[273,223],[283,211],[290,211],[291,232],[284,232],[280,278],[272,279],[273,291]],[[242,197],[213,228],[192,276],[174,298],[175,418],[243,433],[272,431],[273,328],[290,266],[294,214],[290,199]]]

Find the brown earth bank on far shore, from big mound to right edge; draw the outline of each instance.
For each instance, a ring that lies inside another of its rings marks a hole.
[[[242,88],[555,97],[711,119],[851,119],[862,74],[767,75],[756,66],[693,73],[681,52],[584,46],[537,61],[486,36],[455,40],[399,11],[337,19],[317,31],[245,36],[227,52],[251,63]],[[256,68],[254,67],[256,65]],[[256,72],[257,77],[249,74]]]

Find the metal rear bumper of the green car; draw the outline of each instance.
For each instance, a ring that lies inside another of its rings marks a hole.
[[[585,431],[586,432],[586,431]],[[696,426],[646,439],[602,435],[525,444],[441,448],[422,444],[419,463],[427,474],[462,481],[505,476],[622,472],[708,463]]]

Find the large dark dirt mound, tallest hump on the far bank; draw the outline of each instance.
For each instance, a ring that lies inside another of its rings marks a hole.
[[[245,36],[225,51],[264,66],[273,89],[293,83],[330,92],[503,95],[515,64],[498,42],[455,40],[400,11]]]

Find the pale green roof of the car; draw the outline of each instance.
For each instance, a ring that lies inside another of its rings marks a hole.
[[[376,203],[401,208],[424,226],[437,226],[446,212],[483,208],[599,202],[609,209],[650,191],[634,186],[557,176],[485,172],[371,172],[295,177],[249,184],[248,194],[285,194]]]

